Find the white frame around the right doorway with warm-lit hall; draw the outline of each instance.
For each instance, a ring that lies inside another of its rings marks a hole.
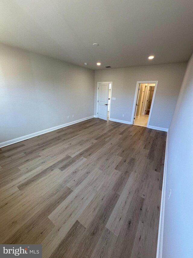
[[[147,128],[149,128],[151,112],[152,112],[152,109],[153,109],[153,103],[154,103],[154,99],[155,99],[155,95],[156,95],[158,81],[137,81],[136,89],[135,89],[135,96],[134,96],[134,103],[133,103],[133,111],[132,111],[132,116],[131,116],[131,124],[132,125],[133,125],[133,120],[134,120],[135,106],[136,106],[136,103],[137,103],[137,93],[138,93],[139,83],[148,83],[148,84],[149,83],[155,83],[155,88],[154,88],[154,92],[153,92],[153,98],[152,98],[151,107],[150,107],[150,113],[149,113],[149,117],[148,117],[148,120],[147,120]]]

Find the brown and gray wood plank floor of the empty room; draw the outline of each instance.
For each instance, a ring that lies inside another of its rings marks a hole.
[[[154,258],[166,132],[93,118],[0,150],[0,243]]]

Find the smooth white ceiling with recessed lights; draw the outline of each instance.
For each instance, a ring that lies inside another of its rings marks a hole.
[[[94,70],[184,62],[193,1],[1,0],[0,42]]]

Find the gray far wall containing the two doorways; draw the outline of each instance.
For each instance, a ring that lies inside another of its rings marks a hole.
[[[112,97],[116,100],[111,101],[111,118],[131,122],[136,82],[158,80],[150,126],[169,128],[186,66],[187,63],[176,63],[96,70],[94,114],[97,82],[113,82]]]

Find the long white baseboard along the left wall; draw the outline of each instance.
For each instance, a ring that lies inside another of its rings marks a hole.
[[[46,133],[46,132],[52,132],[52,131],[57,130],[57,129],[60,129],[60,128],[62,128],[62,127],[66,127],[66,126],[73,125],[73,124],[82,122],[82,121],[84,121],[84,120],[91,119],[91,118],[93,118],[93,117],[94,117],[94,116],[85,117],[85,118],[82,118],[82,119],[79,119],[79,120],[76,120],[76,121],[73,121],[73,122],[69,122],[69,123],[66,123],[66,124],[63,124],[63,125],[60,125],[60,126],[55,126],[55,127],[52,127],[52,128],[49,128],[49,129],[45,129],[45,130],[42,130],[42,131],[39,131],[39,132],[34,132],[34,133],[31,133],[31,134],[28,134],[28,135],[25,135],[25,136],[21,136],[21,137],[12,139],[12,140],[8,140],[8,141],[6,141],[6,142],[1,142],[1,143],[0,143],[0,148],[5,147],[5,146],[10,145],[10,144],[13,144],[13,143],[16,143],[16,142],[21,142],[21,141],[30,139],[30,138],[32,138],[32,137],[35,137],[35,136],[44,134],[44,133]]]

